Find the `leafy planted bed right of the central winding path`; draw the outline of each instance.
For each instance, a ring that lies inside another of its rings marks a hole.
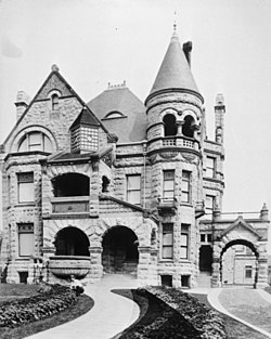
[[[175,288],[145,287],[142,294],[151,294],[179,312],[203,339],[227,339],[227,330],[220,315],[202,304],[196,298]]]

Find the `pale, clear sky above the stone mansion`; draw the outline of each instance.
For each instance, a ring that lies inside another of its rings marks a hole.
[[[124,80],[144,101],[175,21],[209,139],[224,95],[223,211],[271,210],[271,0],[0,0],[0,144],[17,91],[34,97],[53,64],[86,102]]]

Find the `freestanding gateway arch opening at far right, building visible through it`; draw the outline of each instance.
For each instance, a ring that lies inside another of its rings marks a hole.
[[[244,239],[228,243],[220,256],[220,282],[227,286],[256,287],[258,281],[258,252]]]

